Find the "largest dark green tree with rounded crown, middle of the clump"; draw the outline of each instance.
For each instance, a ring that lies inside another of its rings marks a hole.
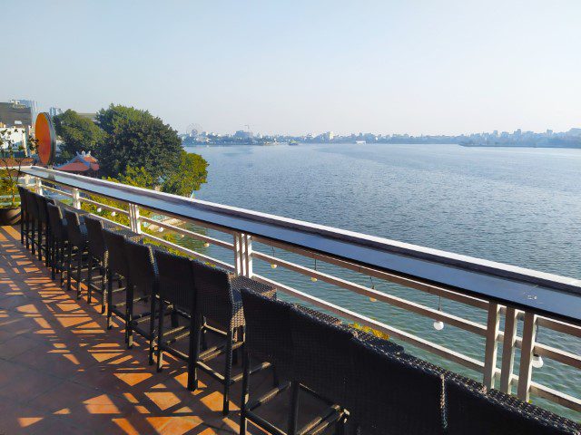
[[[111,104],[97,112],[97,124],[106,133],[99,152],[103,175],[115,177],[127,167],[143,168],[158,184],[178,167],[182,140],[149,111]]]

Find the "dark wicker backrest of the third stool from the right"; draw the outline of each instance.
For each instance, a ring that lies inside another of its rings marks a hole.
[[[330,401],[345,401],[353,333],[317,317],[291,310],[293,379]]]

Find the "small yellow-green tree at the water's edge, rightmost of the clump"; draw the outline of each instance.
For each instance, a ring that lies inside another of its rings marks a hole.
[[[189,197],[199,190],[208,176],[208,162],[198,154],[182,150],[178,168],[170,174],[162,186],[164,192]]]

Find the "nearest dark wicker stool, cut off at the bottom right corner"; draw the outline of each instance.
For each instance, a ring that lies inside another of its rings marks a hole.
[[[578,435],[581,424],[516,397],[487,394],[456,379],[446,381],[447,434]]]

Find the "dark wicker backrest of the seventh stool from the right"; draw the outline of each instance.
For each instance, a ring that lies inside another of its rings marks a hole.
[[[125,257],[129,275],[127,280],[141,295],[157,293],[158,273],[152,247],[125,239]]]

